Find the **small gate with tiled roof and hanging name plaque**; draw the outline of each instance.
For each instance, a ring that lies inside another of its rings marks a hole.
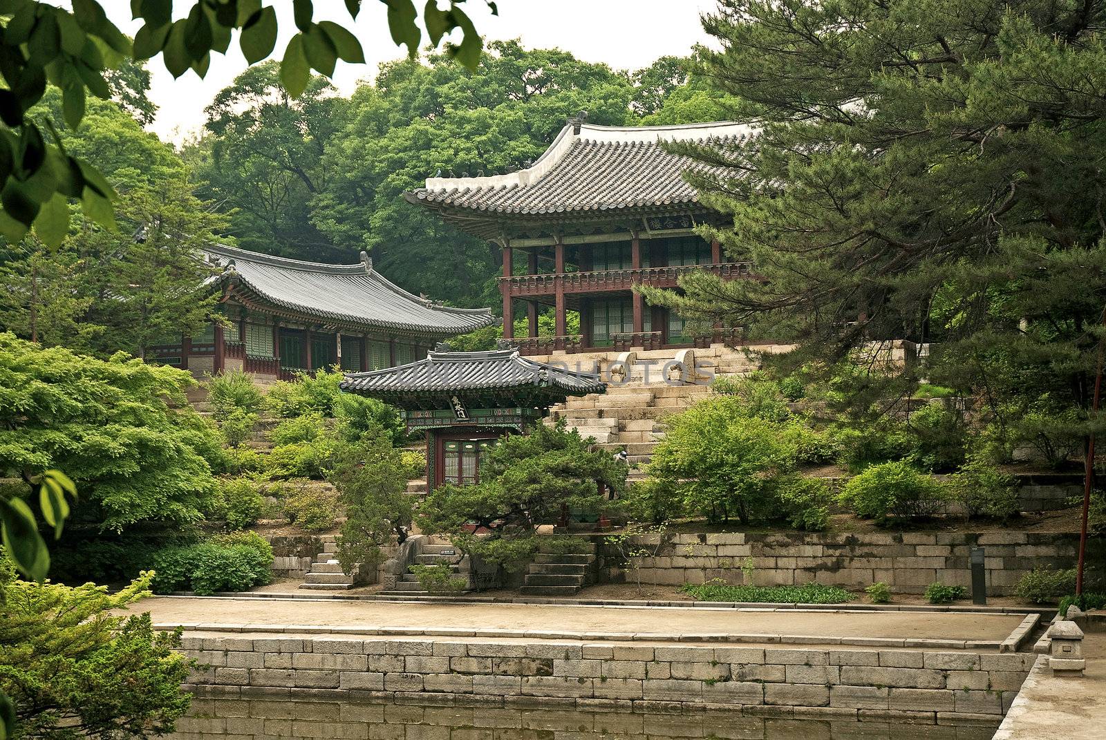
[[[427,483],[474,483],[495,441],[538,424],[568,396],[606,392],[598,375],[520,356],[518,350],[430,352],[426,358],[349,373],[342,389],[403,409],[408,431],[426,432]]]

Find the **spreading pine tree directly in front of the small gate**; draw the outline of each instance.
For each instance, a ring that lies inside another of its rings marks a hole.
[[[424,532],[447,534],[465,552],[513,569],[536,548],[539,525],[555,523],[563,509],[598,513],[609,506],[603,489],[620,496],[627,472],[575,429],[538,425],[492,447],[479,483],[435,489],[416,521]]]

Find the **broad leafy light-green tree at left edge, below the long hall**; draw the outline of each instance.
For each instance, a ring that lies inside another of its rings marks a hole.
[[[185,398],[194,383],[171,367],[0,334],[0,469],[27,483],[65,470],[81,490],[74,515],[102,530],[192,525],[222,465],[218,431]]]

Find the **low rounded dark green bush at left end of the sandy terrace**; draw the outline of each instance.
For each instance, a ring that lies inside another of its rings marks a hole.
[[[164,548],[153,556],[155,593],[191,591],[207,596],[223,591],[247,591],[272,579],[272,549],[253,536],[212,538],[184,546]],[[264,546],[262,546],[262,543]]]

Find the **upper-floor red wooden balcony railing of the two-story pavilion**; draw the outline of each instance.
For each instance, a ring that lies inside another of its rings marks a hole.
[[[565,293],[589,293],[594,291],[629,290],[637,283],[657,288],[675,288],[681,275],[705,270],[720,278],[752,278],[749,262],[726,262],[722,264],[676,264],[661,268],[639,268],[625,270],[593,270],[588,272],[559,272],[535,275],[509,275],[500,278],[511,295],[546,295],[557,290],[557,283]]]

